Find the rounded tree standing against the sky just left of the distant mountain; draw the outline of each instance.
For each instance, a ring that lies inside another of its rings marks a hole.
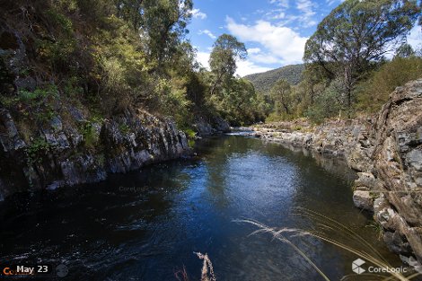
[[[209,57],[209,66],[213,74],[211,95],[219,86],[228,85],[236,72],[236,59],[248,55],[245,45],[229,34],[223,34],[215,40]]]

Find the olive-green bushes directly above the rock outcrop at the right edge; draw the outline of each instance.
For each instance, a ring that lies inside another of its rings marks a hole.
[[[398,86],[422,77],[422,57],[395,57],[356,87],[357,110],[374,113],[381,110]]]

